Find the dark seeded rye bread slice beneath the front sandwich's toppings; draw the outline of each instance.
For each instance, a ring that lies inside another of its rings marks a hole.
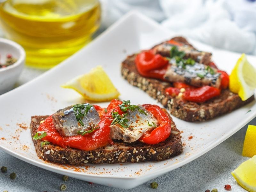
[[[40,122],[48,116],[32,116],[30,124],[31,137],[33,137]],[[169,116],[172,120],[171,116]],[[36,154],[39,158],[59,164],[83,165],[91,164],[114,164],[114,163],[137,163],[144,161],[161,161],[182,152],[180,131],[175,123],[171,124],[172,132],[169,138],[155,144],[149,145],[140,141],[124,143],[120,140],[113,140],[114,145],[108,144],[105,147],[91,151],[83,151],[74,148],[62,148],[48,144],[41,147],[42,140],[33,140]]]

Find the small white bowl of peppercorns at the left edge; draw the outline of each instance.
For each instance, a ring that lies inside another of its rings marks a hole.
[[[18,80],[24,67],[26,53],[17,43],[0,38],[0,62],[3,63],[6,55],[10,53],[17,61],[5,68],[0,68],[0,94],[10,91]]]

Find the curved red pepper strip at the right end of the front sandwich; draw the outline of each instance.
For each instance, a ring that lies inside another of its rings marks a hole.
[[[168,115],[157,105],[145,104],[142,106],[156,117],[160,125],[151,132],[145,132],[140,141],[147,144],[157,144],[166,140],[171,134],[171,120]]]

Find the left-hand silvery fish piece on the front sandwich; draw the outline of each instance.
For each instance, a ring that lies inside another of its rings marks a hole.
[[[90,103],[83,105],[87,106]],[[84,110],[81,109],[81,112],[84,113]],[[77,122],[73,106],[58,110],[52,115],[52,118],[55,128],[65,137],[78,135],[78,131],[87,131],[100,122],[100,116],[93,106],[82,119],[84,126]]]

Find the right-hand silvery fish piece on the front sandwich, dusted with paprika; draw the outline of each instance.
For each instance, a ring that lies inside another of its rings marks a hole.
[[[135,109],[134,111],[128,110],[126,119],[128,119],[127,125],[129,127],[122,127],[120,124],[110,125],[110,137],[112,139],[123,140],[124,142],[134,142],[144,134],[144,132],[154,129],[159,125],[156,118],[145,108],[139,105],[139,108],[145,113],[139,111],[139,109]],[[152,126],[149,126],[152,125]]]

